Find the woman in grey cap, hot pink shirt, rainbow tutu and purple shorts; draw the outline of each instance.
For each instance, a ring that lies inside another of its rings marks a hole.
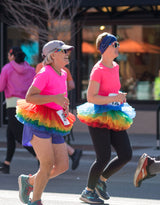
[[[68,153],[63,136],[75,121],[69,113],[67,73],[62,69],[69,63],[73,46],[54,40],[44,45],[44,68],[30,86],[26,100],[17,103],[17,118],[24,123],[23,145],[32,145],[40,161],[33,176],[20,175],[19,197],[28,205],[42,205],[41,196],[48,180],[68,169]],[[33,197],[29,200],[31,191]]]

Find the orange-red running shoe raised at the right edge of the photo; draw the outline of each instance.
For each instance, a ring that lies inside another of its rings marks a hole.
[[[154,177],[155,175],[151,175],[149,173],[149,166],[154,162],[154,159],[149,157],[146,153],[144,153],[139,161],[134,174],[134,186],[140,187],[143,180]]]

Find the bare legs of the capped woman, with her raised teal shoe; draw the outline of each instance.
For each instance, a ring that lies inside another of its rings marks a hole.
[[[68,154],[63,137],[60,138],[60,140],[58,138],[58,142],[56,142],[57,138],[54,137],[54,140],[56,139],[54,142],[51,138],[48,139],[39,138],[35,135],[33,136],[34,137],[32,138],[31,143],[40,160],[40,169],[33,176],[19,176],[19,197],[23,203],[28,203],[30,193],[33,191],[33,187],[35,193],[33,195],[33,200],[36,200],[41,197],[41,194],[49,178],[56,177],[68,169]],[[44,180],[41,180],[41,178]],[[42,182],[42,184],[39,181]]]

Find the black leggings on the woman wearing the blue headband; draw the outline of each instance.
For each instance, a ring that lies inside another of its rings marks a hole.
[[[126,131],[115,132],[106,128],[89,127],[89,132],[96,152],[96,160],[89,171],[88,187],[94,189],[100,175],[108,179],[131,160],[132,148]],[[110,161],[111,145],[117,152],[117,156]]]

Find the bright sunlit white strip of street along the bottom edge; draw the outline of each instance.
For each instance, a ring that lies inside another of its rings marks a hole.
[[[0,204],[3,205],[22,205],[18,200],[17,191],[1,191]],[[45,205],[82,205],[85,204],[78,200],[77,194],[59,194],[59,193],[44,193],[43,199]],[[124,198],[124,197],[112,197],[105,205],[158,205],[159,200],[150,199],[136,199],[136,198]]]

